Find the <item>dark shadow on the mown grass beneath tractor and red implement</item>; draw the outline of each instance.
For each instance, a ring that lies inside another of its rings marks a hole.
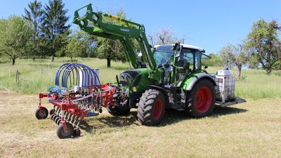
[[[213,114],[211,114],[211,116],[209,117],[217,118],[227,114],[238,114],[242,112],[247,112],[247,110],[237,107],[215,107]],[[81,121],[80,128],[88,133],[92,133],[93,131],[105,128],[114,129],[115,127],[124,127],[131,125],[139,126],[141,125],[141,123],[138,122],[137,113],[138,112],[133,111],[129,116],[124,117],[103,116],[99,118],[84,119],[83,121]],[[169,124],[175,124],[179,121],[187,119],[196,118],[187,117],[183,112],[178,112],[176,110],[166,110],[164,119],[158,126],[167,126]]]

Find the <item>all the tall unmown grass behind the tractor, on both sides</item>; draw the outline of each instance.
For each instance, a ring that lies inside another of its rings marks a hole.
[[[11,62],[0,62],[0,91],[17,91],[21,93],[46,92],[48,86],[54,85],[55,72],[65,62],[72,62],[69,58],[37,59],[35,62],[28,59],[18,59],[14,66]],[[97,58],[77,59],[89,67],[100,69],[100,80],[103,83],[115,82],[116,74],[129,70],[129,65],[123,62],[112,61],[111,68],[106,67],[106,60]],[[215,73],[222,67],[209,67],[208,72]],[[15,72],[20,72],[20,81],[15,83]],[[10,72],[10,75],[9,75]],[[237,70],[232,70],[237,76]],[[266,74],[264,70],[242,70],[242,79],[236,80],[236,96],[242,98],[281,98],[281,73]]]

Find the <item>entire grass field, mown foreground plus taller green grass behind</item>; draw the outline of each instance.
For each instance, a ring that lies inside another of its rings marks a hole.
[[[192,119],[168,111],[162,124],[149,127],[141,126],[136,110],[128,117],[103,110],[83,121],[81,137],[60,140],[50,116],[37,120],[34,112],[37,93],[53,86],[56,70],[67,60],[16,60],[13,67],[0,61],[0,157],[281,157],[280,72],[242,70],[235,92],[247,103],[216,107],[210,117]],[[129,68],[122,62],[107,68],[98,59],[77,62],[100,68],[104,83],[115,82],[115,75]],[[46,100],[44,106],[51,108]]]

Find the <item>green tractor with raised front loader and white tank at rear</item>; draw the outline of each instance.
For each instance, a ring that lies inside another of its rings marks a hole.
[[[81,11],[84,15],[79,15]],[[111,24],[105,18],[119,20],[123,25]],[[152,126],[162,121],[166,109],[205,117],[213,112],[215,103],[228,106],[245,102],[235,98],[234,78],[229,71],[209,74],[207,67],[202,70],[202,57],[207,55],[200,47],[179,43],[151,47],[143,25],[93,12],[91,4],[75,11],[73,23],[94,36],[119,40],[133,67],[116,77],[113,100],[117,105],[107,106],[110,114],[129,114],[131,108],[138,108],[141,124]],[[138,43],[138,54],[133,40]]]

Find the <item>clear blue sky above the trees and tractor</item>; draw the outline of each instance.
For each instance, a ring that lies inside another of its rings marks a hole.
[[[24,15],[33,0],[0,0],[0,18]],[[40,0],[39,0],[40,1]],[[227,44],[241,44],[251,26],[261,18],[281,24],[281,0],[64,0],[72,22],[74,11],[93,4],[94,11],[118,11],[124,8],[126,18],[145,26],[146,34],[169,28],[185,44],[200,46],[206,53],[218,53]],[[41,0],[43,6],[48,0]],[[72,28],[76,28],[72,24]]]

